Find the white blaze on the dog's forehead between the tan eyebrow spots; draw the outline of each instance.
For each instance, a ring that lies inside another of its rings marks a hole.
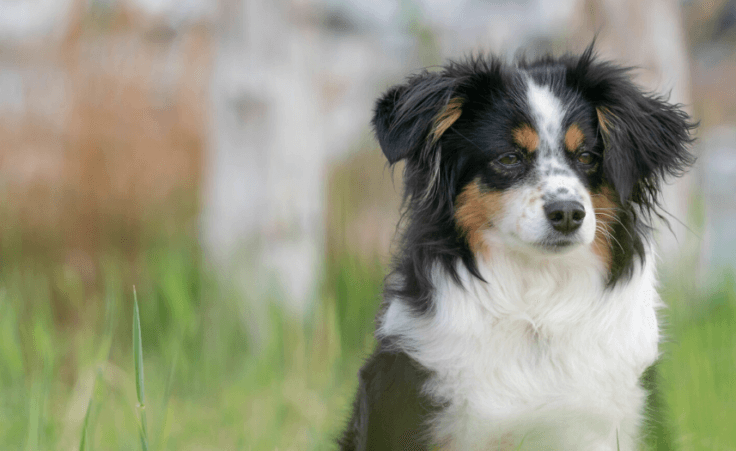
[[[554,149],[564,117],[562,102],[548,86],[539,86],[531,77],[527,77],[527,86],[527,101],[539,133],[540,149]]]

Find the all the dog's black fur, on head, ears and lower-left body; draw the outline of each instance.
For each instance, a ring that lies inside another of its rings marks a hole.
[[[572,165],[591,192],[610,187],[617,194],[609,285],[625,281],[635,259],[644,258],[662,179],[678,175],[693,160],[687,145],[694,125],[687,115],[643,93],[630,81],[628,69],[598,61],[592,45],[579,57],[545,57],[516,66],[494,57],[471,57],[410,77],[377,102],[373,126],[378,142],[390,164],[405,161],[405,227],[386,279],[386,299],[402,298],[416,313],[426,314],[434,302],[444,301],[433,299],[430,272],[436,265],[458,283],[458,262],[481,278],[455,223],[455,201],[478,177],[488,189],[503,190],[532,176],[523,165],[511,170],[493,164],[514,150],[508,138],[512,127],[530,122],[520,69],[571,105],[565,120],[583,127],[585,148],[599,156],[593,165]],[[452,99],[461,100],[462,114],[433,139],[435,121]],[[341,449],[425,449],[424,422],[436,408],[421,395],[426,377],[408,356],[392,351],[390,343],[379,343],[360,372]]]

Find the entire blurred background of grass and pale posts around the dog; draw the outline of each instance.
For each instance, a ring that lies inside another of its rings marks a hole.
[[[333,449],[399,217],[374,99],[580,52],[700,121],[647,449],[736,449],[736,1],[0,0],[0,448]],[[83,438],[84,437],[84,438]]]

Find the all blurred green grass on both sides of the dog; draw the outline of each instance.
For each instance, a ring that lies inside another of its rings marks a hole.
[[[0,267],[0,449],[333,448],[373,345],[379,264],[332,256],[314,311],[270,308],[258,344],[194,245],[102,267],[92,286],[68,267]],[[736,284],[724,272],[709,286],[662,289],[663,401],[682,450],[736,449]]]

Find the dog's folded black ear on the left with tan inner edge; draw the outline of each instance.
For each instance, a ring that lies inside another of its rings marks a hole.
[[[389,89],[376,102],[373,127],[389,163],[422,155],[460,117],[454,80],[424,72]]]

